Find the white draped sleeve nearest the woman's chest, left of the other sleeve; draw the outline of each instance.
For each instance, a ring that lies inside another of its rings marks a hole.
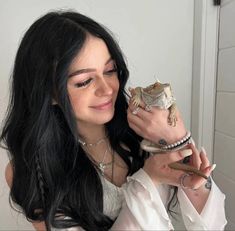
[[[124,202],[111,230],[171,230],[173,226],[156,186],[140,169],[122,187]]]

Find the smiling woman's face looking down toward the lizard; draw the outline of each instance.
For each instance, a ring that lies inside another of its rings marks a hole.
[[[112,119],[119,80],[103,40],[87,37],[69,68],[67,88],[78,124],[100,125]]]

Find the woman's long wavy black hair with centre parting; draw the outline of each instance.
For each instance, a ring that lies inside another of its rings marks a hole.
[[[44,221],[48,230],[52,226],[108,230],[114,222],[103,213],[100,177],[77,142],[67,92],[68,68],[88,35],[106,43],[118,70],[118,113],[105,124],[111,146],[127,163],[129,175],[144,164],[140,137],[127,122],[125,84],[129,72],[111,33],[73,11],[49,12],[39,18],[25,33],[16,54],[0,140],[12,159],[11,200],[29,220]],[[53,99],[57,105],[52,105]]]

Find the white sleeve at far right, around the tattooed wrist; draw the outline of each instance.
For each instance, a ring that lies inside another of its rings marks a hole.
[[[213,180],[209,197],[201,214],[196,211],[181,188],[179,188],[177,196],[187,230],[224,230],[227,223],[225,195]]]

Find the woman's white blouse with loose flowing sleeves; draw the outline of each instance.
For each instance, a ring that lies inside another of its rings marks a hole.
[[[122,187],[117,187],[101,176],[104,193],[104,213],[116,219],[111,230],[174,230],[168,216],[166,204],[169,198],[169,186],[153,184],[143,170],[138,170],[127,178]],[[225,195],[212,180],[212,188],[207,202],[199,214],[192,203],[179,188],[177,197],[187,230],[224,230]],[[68,231],[83,230],[79,227]]]

